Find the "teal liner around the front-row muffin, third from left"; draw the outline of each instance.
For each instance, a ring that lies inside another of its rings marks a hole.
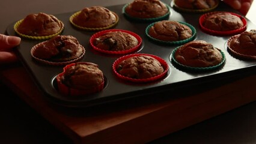
[[[201,72],[201,71],[212,71],[212,70],[216,70],[220,67],[222,67],[222,65],[225,64],[225,61],[226,61],[226,58],[225,58],[225,54],[224,52],[222,52],[220,49],[219,52],[221,52],[221,55],[222,55],[222,61],[221,63],[219,63],[218,65],[215,65],[215,66],[212,66],[212,67],[189,67],[189,66],[186,66],[186,65],[183,65],[183,64],[180,64],[178,61],[176,61],[176,59],[174,58],[175,56],[175,52],[177,51],[177,49],[179,49],[179,47],[175,48],[173,51],[172,51],[172,54],[171,54],[171,61],[174,62],[173,64],[177,65],[178,68],[181,68],[185,71],[194,71],[194,72]]]

